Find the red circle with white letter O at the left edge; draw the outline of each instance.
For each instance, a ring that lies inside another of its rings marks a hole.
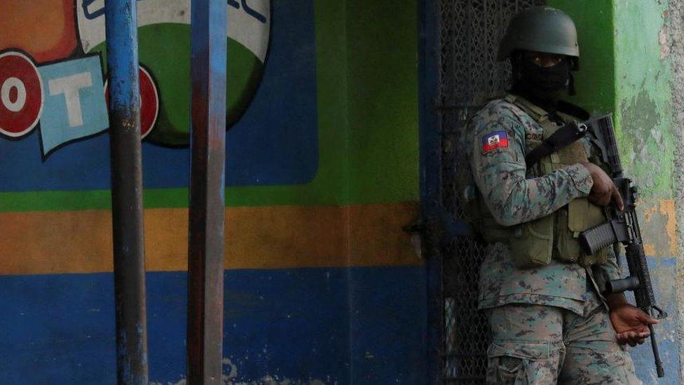
[[[0,53],[0,133],[27,135],[43,111],[43,83],[36,65],[23,53]]]

